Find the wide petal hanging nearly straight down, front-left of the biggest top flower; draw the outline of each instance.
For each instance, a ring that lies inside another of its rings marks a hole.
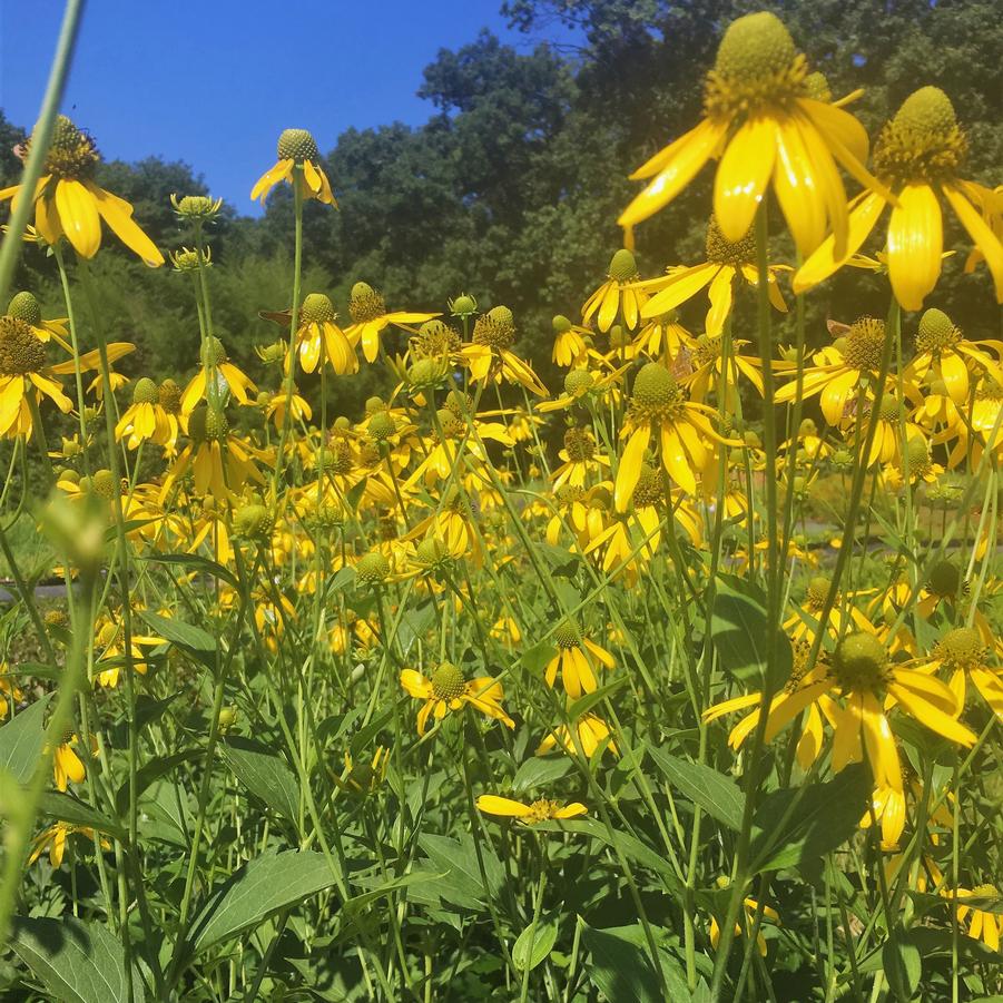
[[[714,213],[727,240],[748,234],[777,155],[771,118],[749,119],[732,137],[714,178]]]

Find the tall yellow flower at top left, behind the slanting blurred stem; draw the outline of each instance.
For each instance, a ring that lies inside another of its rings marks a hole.
[[[42,176],[30,195],[36,230],[49,245],[66,236],[80,257],[92,258],[101,246],[104,219],[147,265],[163,265],[164,255],[134,222],[132,206],[95,183],[100,159],[94,139],[65,115],[58,116]],[[22,185],[12,185],[0,190],[0,201],[13,198],[17,203],[24,197],[22,189]]]

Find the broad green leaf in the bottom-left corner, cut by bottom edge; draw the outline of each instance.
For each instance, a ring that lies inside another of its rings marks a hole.
[[[11,948],[60,1003],[126,1003],[129,999],[126,955],[107,926],[71,916],[14,921]],[[132,999],[146,999],[139,973],[132,970]]]

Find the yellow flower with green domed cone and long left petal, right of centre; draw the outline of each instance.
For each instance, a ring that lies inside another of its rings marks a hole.
[[[630,409],[621,433],[627,437],[627,446],[620,458],[613,490],[618,512],[627,511],[652,434],[660,445],[666,473],[684,491],[696,493],[697,471],[707,465],[712,454],[708,440],[727,442],[710,426],[708,415],[715,413],[704,404],[688,401],[684,389],[660,363],[649,362],[641,366],[633,381]]]

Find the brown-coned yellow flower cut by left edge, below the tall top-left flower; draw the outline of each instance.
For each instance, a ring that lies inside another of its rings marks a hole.
[[[0,435],[30,435],[32,403],[46,396],[63,413],[73,402],[51,378],[46,364],[46,345],[30,325],[17,317],[0,317]]]

